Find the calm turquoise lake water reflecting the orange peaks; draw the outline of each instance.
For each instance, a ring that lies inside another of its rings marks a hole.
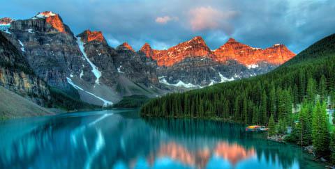
[[[236,124],[143,120],[136,111],[0,122],[0,168],[324,168]]]

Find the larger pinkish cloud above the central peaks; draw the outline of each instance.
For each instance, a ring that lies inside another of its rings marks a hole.
[[[221,11],[211,6],[193,8],[189,11],[190,24],[193,31],[223,29],[226,33],[232,33],[230,19],[236,17],[237,12]]]

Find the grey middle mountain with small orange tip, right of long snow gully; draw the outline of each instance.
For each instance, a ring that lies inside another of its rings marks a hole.
[[[135,52],[126,42],[114,49],[107,44],[101,32],[89,30],[80,33],[77,38],[98,80],[94,90],[103,86],[97,92],[105,95],[107,88],[111,92],[105,96],[108,100],[117,102],[115,99],[128,95],[154,97],[161,92],[157,88],[156,62]]]

